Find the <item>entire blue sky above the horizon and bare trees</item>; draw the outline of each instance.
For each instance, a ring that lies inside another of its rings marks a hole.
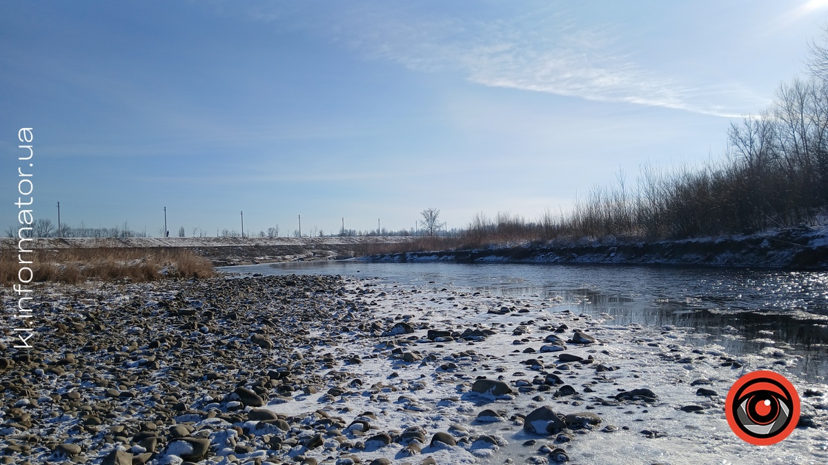
[[[164,207],[188,237],[242,212],[280,235],[532,220],[643,163],[719,160],[826,20],[828,0],[2,2],[0,228],[21,166],[36,218],[150,236]]]

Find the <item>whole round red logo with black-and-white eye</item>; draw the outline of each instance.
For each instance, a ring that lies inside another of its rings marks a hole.
[[[724,415],[739,438],[768,446],[787,438],[797,427],[799,395],[785,376],[775,372],[750,372],[730,387]]]

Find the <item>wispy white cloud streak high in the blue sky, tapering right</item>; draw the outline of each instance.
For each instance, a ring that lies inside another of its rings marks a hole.
[[[368,58],[411,70],[459,71],[491,87],[589,100],[675,108],[723,117],[768,103],[735,83],[694,83],[662,75],[623,50],[618,25],[578,26],[561,8],[512,17],[422,17],[416,12],[349,12],[335,40]]]

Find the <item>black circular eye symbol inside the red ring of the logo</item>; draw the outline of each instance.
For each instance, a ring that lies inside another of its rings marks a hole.
[[[739,427],[756,439],[773,438],[791,423],[793,400],[784,386],[773,380],[742,386],[732,406]]]

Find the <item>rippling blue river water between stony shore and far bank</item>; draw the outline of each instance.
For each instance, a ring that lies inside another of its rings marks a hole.
[[[610,314],[613,324],[691,328],[700,345],[734,354],[781,348],[792,372],[828,376],[828,272],[506,263],[303,261],[231,266],[262,275],[380,277],[402,285],[454,285],[547,300],[550,311]],[[788,348],[787,346],[790,346]]]

